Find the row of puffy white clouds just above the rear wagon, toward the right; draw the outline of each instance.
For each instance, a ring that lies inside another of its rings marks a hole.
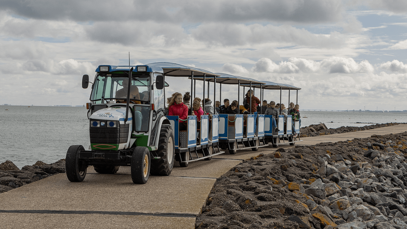
[[[254,72],[299,73],[299,72],[329,72],[357,73],[373,72],[374,67],[367,60],[356,63],[352,58],[330,57],[322,61],[306,60],[291,57],[288,61],[276,64],[268,58],[262,58],[253,66]]]

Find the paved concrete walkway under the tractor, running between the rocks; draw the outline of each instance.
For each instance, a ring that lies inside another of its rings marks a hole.
[[[404,131],[407,124],[304,137],[296,145]],[[120,167],[113,175],[98,174],[90,167],[79,183],[68,181],[66,174],[57,174],[0,194],[0,228],[193,229],[217,177],[244,159],[276,149],[270,146],[257,152],[225,153],[211,161],[190,163],[187,168],[176,163],[170,176],[150,176],[144,185],[132,183],[129,167]]]

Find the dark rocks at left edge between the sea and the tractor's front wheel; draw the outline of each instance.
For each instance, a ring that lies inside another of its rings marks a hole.
[[[21,170],[12,161],[5,161],[0,164],[0,193],[64,172],[65,159],[52,164],[37,161]]]

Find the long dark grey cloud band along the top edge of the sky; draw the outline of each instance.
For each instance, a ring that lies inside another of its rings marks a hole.
[[[340,0],[3,0],[3,10],[46,20],[157,22],[336,21],[341,18]]]

